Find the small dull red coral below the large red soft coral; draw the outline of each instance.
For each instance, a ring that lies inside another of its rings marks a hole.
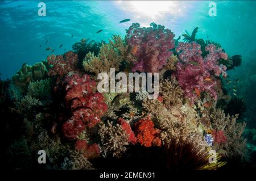
[[[87,159],[93,159],[100,156],[100,147],[97,144],[88,145],[85,140],[77,140],[75,149],[81,151]]]

